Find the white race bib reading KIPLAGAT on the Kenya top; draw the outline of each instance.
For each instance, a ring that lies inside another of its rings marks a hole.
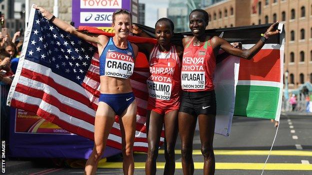
[[[205,73],[199,71],[182,71],[181,86],[182,89],[204,89]]]

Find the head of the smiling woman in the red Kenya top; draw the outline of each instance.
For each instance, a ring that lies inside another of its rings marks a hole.
[[[208,22],[205,21],[204,14],[200,11],[193,11],[189,15],[189,29],[194,36],[198,37],[205,34]]]

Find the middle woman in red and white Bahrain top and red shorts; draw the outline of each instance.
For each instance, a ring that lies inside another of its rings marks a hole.
[[[133,33],[148,36],[137,26]],[[146,133],[148,142],[145,174],[156,174],[159,139],[164,123],[165,168],[164,175],[173,175],[175,169],[174,147],[177,137],[177,114],[180,104],[180,68],[182,47],[170,44],[174,25],[168,18],[160,18],[155,24],[157,44],[137,44],[149,61]]]

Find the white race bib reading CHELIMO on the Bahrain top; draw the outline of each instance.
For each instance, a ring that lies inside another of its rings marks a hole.
[[[171,83],[163,83],[151,80],[146,80],[146,83],[149,97],[159,100],[170,100],[172,87]]]

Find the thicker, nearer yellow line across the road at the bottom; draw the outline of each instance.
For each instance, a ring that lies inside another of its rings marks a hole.
[[[262,163],[215,163],[216,170],[262,170],[264,164]],[[164,169],[164,162],[156,163],[157,169]],[[105,169],[122,169],[122,163],[106,162],[99,163],[98,168]],[[135,162],[135,169],[144,169],[145,163]],[[194,169],[202,169],[203,163],[194,163]],[[175,163],[175,169],[182,169],[180,162]],[[309,171],[312,170],[311,164],[266,164],[264,170],[292,170],[292,171]]]

